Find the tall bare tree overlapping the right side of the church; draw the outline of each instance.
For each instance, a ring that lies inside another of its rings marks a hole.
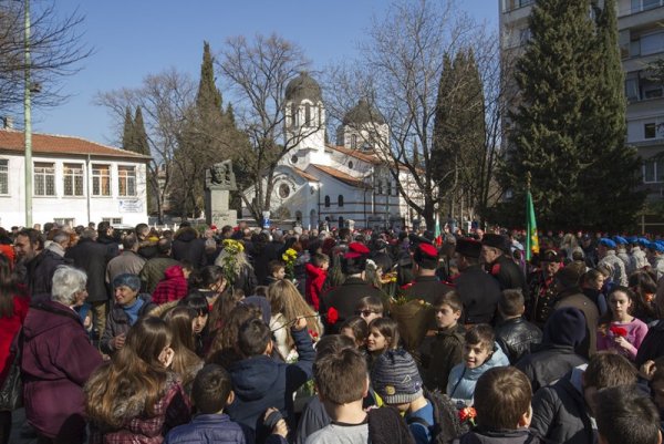
[[[330,114],[341,118],[351,97],[357,96],[380,110],[390,126],[390,141],[383,144],[380,155],[390,165],[400,194],[429,227],[456,173],[456,168],[448,168],[448,174],[436,176],[432,162],[445,54],[454,58],[458,51],[470,49],[484,63],[487,47],[495,48],[489,44],[491,39],[496,40],[481,32],[454,1],[395,2],[384,20],[374,20],[367,41],[361,44],[361,58],[329,71]],[[488,166],[485,163],[485,168]],[[407,182],[418,193],[413,193]]]

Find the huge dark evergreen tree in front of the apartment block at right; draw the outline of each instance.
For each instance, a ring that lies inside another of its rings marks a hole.
[[[633,192],[635,156],[624,146],[615,3],[604,3],[603,11],[591,0],[540,1],[532,9],[501,171],[512,192],[499,207],[506,225],[526,220],[528,173],[538,223],[548,229],[625,228],[641,205]]]

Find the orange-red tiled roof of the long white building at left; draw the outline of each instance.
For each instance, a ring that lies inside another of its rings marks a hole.
[[[0,130],[0,149],[23,153],[25,151],[23,132]],[[32,152],[39,154],[91,154],[96,156],[129,157],[135,159],[149,158],[149,156],[90,142],[81,137],[37,133],[32,134]]]

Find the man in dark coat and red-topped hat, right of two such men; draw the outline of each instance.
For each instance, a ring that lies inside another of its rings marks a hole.
[[[422,299],[434,303],[436,297],[454,290],[436,277],[438,267],[438,250],[432,244],[421,241],[413,254],[415,278],[405,285],[406,299]]]

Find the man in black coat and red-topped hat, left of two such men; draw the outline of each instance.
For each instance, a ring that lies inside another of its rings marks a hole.
[[[360,242],[351,242],[347,248],[341,258],[341,269],[346,277],[344,282],[332,287],[321,297],[319,311],[325,324],[325,334],[339,332],[339,326],[355,314],[360,299],[366,296],[385,297],[383,291],[364,280],[369,248]]]

